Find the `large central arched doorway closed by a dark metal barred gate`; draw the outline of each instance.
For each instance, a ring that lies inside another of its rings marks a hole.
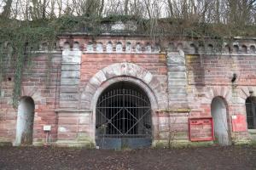
[[[96,145],[102,149],[140,148],[152,143],[151,105],[142,88],[116,82],[96,104]]]

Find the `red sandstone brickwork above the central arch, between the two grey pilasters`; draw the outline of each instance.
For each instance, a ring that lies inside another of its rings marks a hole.
[[[81,86],[84,87],[97,71],[121,62],[131,62],[142,66],[158,77],[161,85],[166,88],[166,59],[161,54],[83,54]]]

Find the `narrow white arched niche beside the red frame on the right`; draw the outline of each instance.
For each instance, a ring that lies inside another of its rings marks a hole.
[[[229,145],[230,134],[227,122],[227,108],[224,99],[215,97],[211,105],[212,118],[214,122],[214,136],[218,144]]]

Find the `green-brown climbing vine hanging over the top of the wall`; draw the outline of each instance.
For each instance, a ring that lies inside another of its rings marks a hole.
[[[20,98],[21,79],[25,65],[32,64],[34,51],[38,50],[42,42],[48,44],[49,51],[55,48],[57,35],[64,31],[86,31],[92,35],[99,35],[103,31],[102,25],[117,21],[132,21],[137,31],[130,33],[143,33],[161,41],[166,37],[195,39],[201,46],[210,39],[221,48],[224,38],[234,36],[255,36],[255,26],[236,27],[224,24],[207,24],[188,22],[182,19],[144,19],[133,15],[98,15],[73,16],[66,14],[60,18],[50,20],[10,20],[0,18],[0,90],[8,74],[15,78],[13,91],[13,105],[17,106]],[[49,61],[51,54],[49,53]],[[13,72],[12,72],[13,71]],[[49,71],[49,70],[48,70]]]

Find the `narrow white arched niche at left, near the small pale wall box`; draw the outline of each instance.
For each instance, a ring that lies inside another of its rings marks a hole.
[[[34,112],[34,100],[22,97],[18,106],[15,145],[32,144]]]

